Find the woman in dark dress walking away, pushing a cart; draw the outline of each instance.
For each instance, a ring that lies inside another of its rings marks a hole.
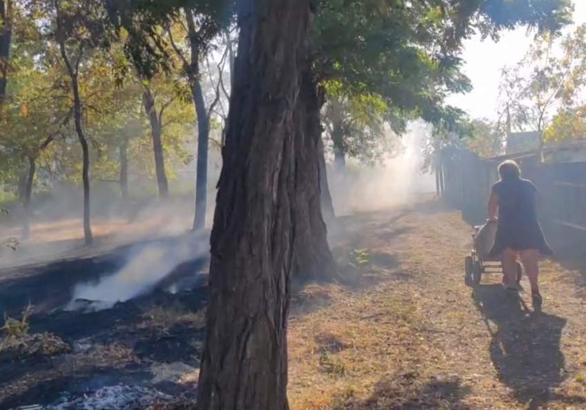
[[[501,179],[492,185],[488,200],[488,219],[497,223],[489,256],[501,256],[503,285],[509,291],[518,291],[516,262],[521,258],[531,284],[533,305],[539,308],[543,303],[538,285],[539,257],[553,252],[537,220],[537,188],[531,181],[521,178],[521,168],[515,161],[498,165],[498,175]]]

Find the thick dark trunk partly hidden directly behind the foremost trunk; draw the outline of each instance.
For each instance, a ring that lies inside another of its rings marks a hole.
[[[321,207],[321,169],[319,150],[321,139],[320,105],[316,84],[307,70],[301,79],[297,99],[296,125],[296,209],[295,220],[295,278],[305,281],[329,281],[336,274],[336,262],[327,243],[327,229]],[[327,182],[325,184],[327,189]],[[327,195],[330,195],[329,189]],[[330,197],[331,204],[331,197]],[[329,218],[334,210],[326,209]]]

